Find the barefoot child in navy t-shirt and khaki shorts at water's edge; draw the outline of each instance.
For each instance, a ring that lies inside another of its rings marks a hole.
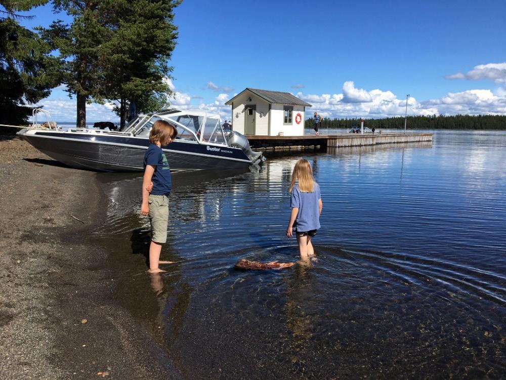
[[[158,264],[173,263],[160,261],[161,245],[167,241],[168,196],[172,189],[171,168],[161,147],[171,143],[177,135],[178,131],[174,126],[166,121],[157,120],[149,133],[150,144],[144,156],[141,215],[149,215],[151,222],[148,271],[150,273],[164,272],[158,268]]]

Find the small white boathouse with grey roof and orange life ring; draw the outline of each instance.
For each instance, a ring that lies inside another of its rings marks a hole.
[[[252,88],[225,104],[232,106],[232,129],[257,136],[303,136],[306,107],[311,107],[289,92]]]

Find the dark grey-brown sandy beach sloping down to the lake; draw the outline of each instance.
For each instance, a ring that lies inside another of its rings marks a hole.
[[[0,131],[2,378],[179,377],[114,299],[118,269],[90,236],[106,210],[96,175]]]

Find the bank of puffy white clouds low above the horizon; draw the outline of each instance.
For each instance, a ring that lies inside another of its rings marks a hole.
[[[201,96],[177,91],[170,79],[166,79],[166,83],[173,91],[173,96],[167,98],[171,106],[179,109],[199,108],[218,113],[222,119],[231,119],[231,107],[225,105],[225,102],[237,94],[229,96],[230,91],[221,91],[214,100],[206,103]],[[212,82],[209,83],[216,86]],[[307,109],[306,116],[317,111],[329,118],[383,118],[404,116],[406,107],[405,95],[399,98],[388,90],[357,89],[353,81],[345,82],[341,93],[304,94],[298,92],[296,96],[313,105],[312,108]],[[199,102],[198,105],[196,105],[197,102]],[[39,104],[44,104],[45,109],[53,112],[57,122],[75,122],[76,120],[76,104],[73,99],[45,99]],[[113,106],[112,103],[88,104],[88,124],[96,121],[118,121],[119,118],[112,112]],[[506,115],[506,89],[500,87],[494,91],[474,89],[457,93],[449,92],[439,99],[424,101],[409,97],[407,112],[408,115]]]

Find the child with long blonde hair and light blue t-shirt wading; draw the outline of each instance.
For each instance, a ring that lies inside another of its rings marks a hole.
[[[311,238],[320,228],[321,202],[320,186],[313,178],[313,171],[308,161],[300,159],[291,174],[290,184],[290,219],[286,228],[286,236],[293,233],[297,236],[301,261],[315,260],[315,251]]]

